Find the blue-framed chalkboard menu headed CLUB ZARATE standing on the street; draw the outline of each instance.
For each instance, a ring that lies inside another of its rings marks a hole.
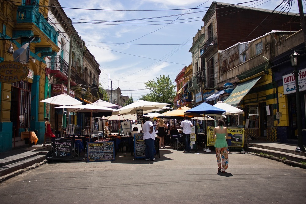
[[[114,141],[88,142],[87,161],[114,161]]]

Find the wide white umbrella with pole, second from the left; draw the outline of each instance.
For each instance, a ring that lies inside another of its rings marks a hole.
[[[76,113],[76,112],[77,113],[90,113],[90,118],[92,118],[93,113],[98,113],[100,116],[110,116],[113,113],[113,111],[115,110],[115,109],[112,109],[112,108],[107,108],[107,107],[103,107],[103,106],[95,106],[95,105],[91,105],[91,104],[77,105],[77,106],[59,106],[59,107],[56,107],[56,108],[66,108],[69,112],[72,112],[72,113]],[[90,127],[91,127],[91,120],[90,120]],[[92,128],[92,134],[93,134],[93,131],[94,130]],[[103,131],[103,133],[104,133],[104,131]],[[90,141],[90,138],[89,138],[89,141]]]

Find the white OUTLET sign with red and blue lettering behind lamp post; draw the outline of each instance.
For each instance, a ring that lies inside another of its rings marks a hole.
[[[299,81],[299,91],[306,90],[306,69],[302,69],[299,72],[298,76]],[[295,76],[293,73],[287,74],[283,76],[283,84],[284,84],[284,94],[295,93]]]

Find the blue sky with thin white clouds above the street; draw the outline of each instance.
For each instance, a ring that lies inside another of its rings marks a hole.
[[[141,95],[149,93],[145,90],[144,82],[156,81],[156,78],[163,74],[169,75],[174,82],[181,69],[192,63],[191,53],[188,52],[192,46],[192,37],[204,25],[202,18],[213,1],[59,0],[59,2],[62,7],[83,8],[64,8],[64,10],[85,41],[88,50],[100,64],[102,72],[99,81],[102,86],[108,90],[113,81],[113,89],[120,87],[123,95],[132,95],[135,101]],[[220,2],[237,4],[247,1]],[[281,2],[248,1],[242,6],[274,10]],[[305,7],[304,1],[303,4]],[[286,8],[280,6],[277,10],[281,9]],[[290,12],[298,13],[297,0],[292,2]]]

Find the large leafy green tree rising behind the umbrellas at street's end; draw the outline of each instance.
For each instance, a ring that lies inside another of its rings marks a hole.
[[[168,76],[159,75],[155,80],[149,80],[145,82],[147,89],[150,89],[150,93],[141,96],[141,100],[160,102],[160,103],[171,103],[175,97],[175,85],[172,84],[172,80]]]

